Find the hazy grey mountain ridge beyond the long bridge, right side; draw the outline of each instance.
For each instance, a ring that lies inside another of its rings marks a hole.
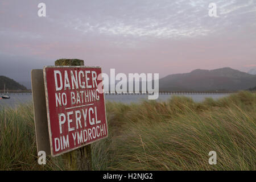
[[[160,91],[246,90],[256,85],[256,75],[232,68],[196,69],[159,79]]]

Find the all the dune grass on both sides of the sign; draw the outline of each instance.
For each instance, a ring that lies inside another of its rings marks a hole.
[[[255,170],[255,93],[106,102],[106,111],[109,137],[92,144],[94,170]],[[32,104],[0,109],[1,170],[63,169],[61,157],[38,164],[32,113]]]

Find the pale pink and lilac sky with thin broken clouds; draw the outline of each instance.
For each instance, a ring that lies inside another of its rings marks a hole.
[[[39,3],[46,17],[39,17]],[[209,16],[216,4],[218,17]],[[256,0],[0,0],[0,75],[76,58],[105,73],[256,68]]]

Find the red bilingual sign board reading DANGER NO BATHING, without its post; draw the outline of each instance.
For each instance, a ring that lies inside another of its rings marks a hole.
[[[108,137],[100,74],[100,67],[44,67],[52,156]]]

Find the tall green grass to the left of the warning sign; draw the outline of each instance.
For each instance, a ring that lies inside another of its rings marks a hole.
[[[53,160],[55,160],[53,162]],[[38,164],[32,104],[0,109],[0,170],[61,169],[56,159]]]

